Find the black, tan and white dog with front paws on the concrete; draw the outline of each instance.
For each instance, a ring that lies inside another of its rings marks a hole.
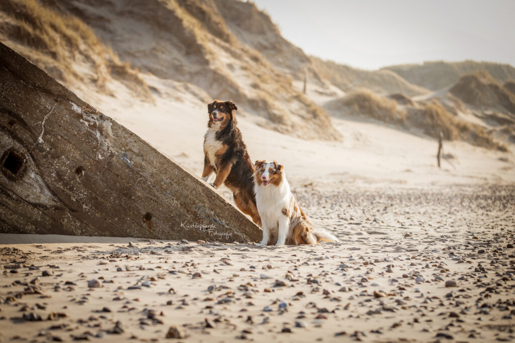
[[[232,101],[215,100],[208,104],[208,131],[204,135],[204,170],[207,181],[214,171],[214,188],[225,184],[232,192],[236,206],[251,216],[256,225],[261,219],[254,196],[254,166],[236,127],[236,105]]]

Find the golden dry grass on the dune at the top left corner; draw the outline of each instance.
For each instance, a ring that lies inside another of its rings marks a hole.
[[[109,93],[111,78],[126,84],[144,99],[151,99],[148,86],[137,71],[96,37],[91,28],[75,16],[58,13],[35,0],[0,1],[0,38],[47,73],[63,82],[93,82]],[[87,65],[84,76],[75,66]]]

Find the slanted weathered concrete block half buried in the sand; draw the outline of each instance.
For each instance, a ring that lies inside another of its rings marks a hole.
[[[1,43],[0,156],[0,232],[261,239],[198,176]]]

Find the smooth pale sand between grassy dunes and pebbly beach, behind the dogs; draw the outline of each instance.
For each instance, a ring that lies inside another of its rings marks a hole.
[[[79,95],[163,153],[201,173],[207,105],[180,89],[172,92],[169,85],[158,81],[149,82],[162,94],[156,96],[156,104],[134,100],[130,94],[118,94],[117,99],[88,91]],[[317,93],[315,85],[308,89],[308,97],[316,103],[331,99]],[[238,108],[237,118],[251,158],[282,162],[293,182],[304,178],[315,182],[359,178],[407,184],[515,182],[512,152],[445,141],[444,152],[455,158],[444,160],[443,168],[438,169],[437,142],[416,131],[403,132],[373,121],[333,118],[334,127],[344,138],[327,142],[267,130],[266,121],[248,114],[244,106]]]

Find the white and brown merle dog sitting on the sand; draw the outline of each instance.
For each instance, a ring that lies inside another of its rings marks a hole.
[[[256,161],[254,193],[261,216],[263,240],[259,245],[337,242],[331,233],[314,229],[291,194],[284,168],[276,161]]]

